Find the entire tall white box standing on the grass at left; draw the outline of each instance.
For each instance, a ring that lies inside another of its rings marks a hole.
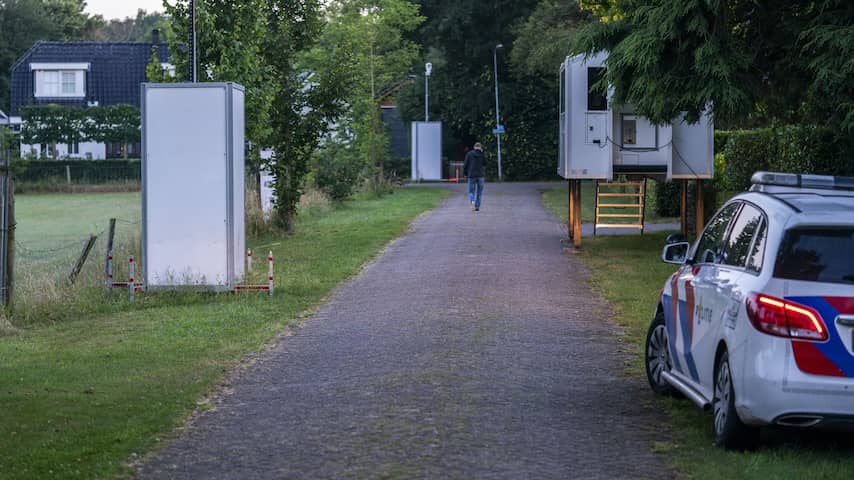
[[[142,85],[146,289],[231,290],[244,275],[244,89]]]

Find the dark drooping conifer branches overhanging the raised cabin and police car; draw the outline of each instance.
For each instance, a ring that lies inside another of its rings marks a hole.
[[[614,101],[633,104],[655,122],[680,112],[697,120],[710,106],[719,124],[830,117],[843,128],[854,125],[844,123],[852,111],[846,79],[854,71],[845,53],[854,45],[850,2],[589,3],[617,13],[585,25],[573,50],[608,50]],[[828,112],[822,93],[843,98],[834,98]]]

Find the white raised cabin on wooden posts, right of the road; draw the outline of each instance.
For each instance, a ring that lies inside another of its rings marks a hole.
[[[558,175],[576,180],[611,180],[620,174],[712,178],[711,117],[688,124],[682,116],[656,125],[637,115],[632,105],[614,105],[610,88],[596,88],[607,60],[607,52],[576,55],[560,66]]]

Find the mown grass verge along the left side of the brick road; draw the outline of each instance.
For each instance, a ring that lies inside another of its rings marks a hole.
[[[124,293],[101,292],[59,321],[33,321],[0,337],[0,477],[129,473],[129,460],[205,408],[204,395],[235,364],[317,306],[447,193],[401,189],[301,218],[293,236],[250,241],[256,251],[273,250],[272,298],[159,293],[130,305]],[[129,198],[129,205],[137,201]],[[100,212],[113,200],[95,196],[102,205],[81,208]],[[95,298],[106,306],[88,303]]]

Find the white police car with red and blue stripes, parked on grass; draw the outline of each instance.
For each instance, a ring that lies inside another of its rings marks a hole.
[[[762,425],[854,425],[854,178],[757,172],[665,283],[646,340],[658,394],[714,414],[715,443]]]

